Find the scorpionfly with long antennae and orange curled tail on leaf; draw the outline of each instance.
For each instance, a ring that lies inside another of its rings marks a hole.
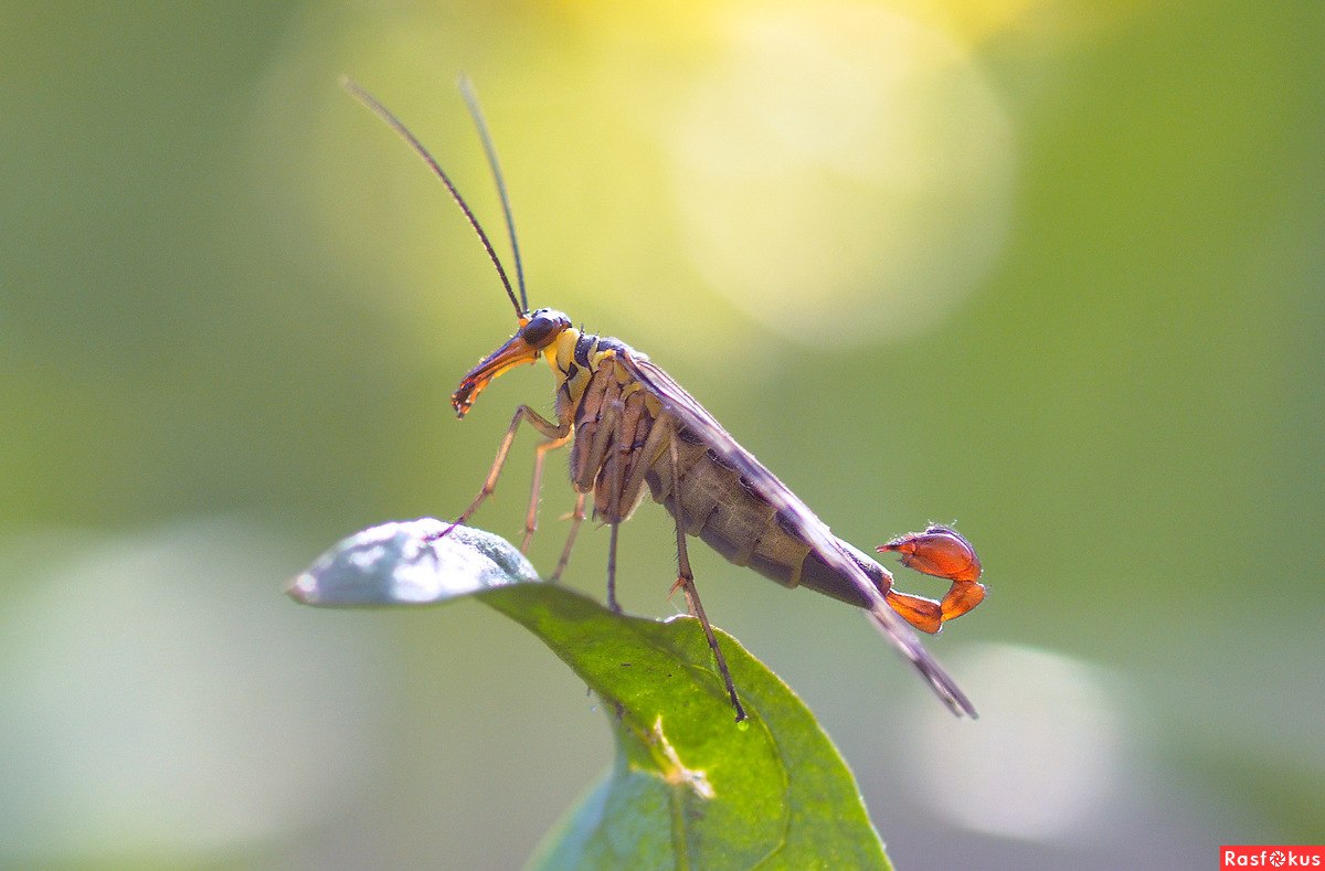
[[[568,447],[576,500],[551,580],[559,578],[566,568],[586,516],[586,502],[592,498],[594,515],[610,528],[607,604],[619,612],[617,531],[647,490],[676,520],[678,568],[672,592],[684,592],[690,614],[704,627],[737,721],[743,720],[746,712],[700,602],[686,536],[698,536],[729,561],[747,565],[784,586],[808,586],[864,609],[954,713],[974,717],[970,700],[909,627],[935,633],[946,621],[980,602],[984,586],[978,582],[980,564],[971,545],[947,527],[929,527],[880,545],[878,551],[900,553],[905,565],[953,582],[942,601],[893,589],[888,569],[833,536],[804,502],[648,356],[617,339],[575,328],[570,318],[553,308],[530,310],[510,200],[478,102],[464,79],[461,91],[478,128],[505,213],[518,299],[492,241],[441,165],[376,98],[348,79],[342,79],[342,85],[391,126],[441,180],[478,234],[515,308],[515,335],[465,375],[452,394],[457,417],[469,412],[493,379],[517,365],[546,360],[556,380],[554,420],[527,405],[515,409],[482,488],[439,537],[469,520],[494,492],[517,430],[522,422],[529,424],[545,441],[534,454],[533,490],[521,549],[529,547],[538,526],[543,462],[550,451]]]

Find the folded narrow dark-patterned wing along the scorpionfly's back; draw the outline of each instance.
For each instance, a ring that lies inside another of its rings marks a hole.
[[[627,369],[640,380],[640,383],[659,398],[662,408],[669,412],[681,426],[704,439],[714,453],[723,461],[734,466],[741,475],[750,482],[750,486],[771,506],[774,506],[786,523],[795,529],[796,535],[808,544],[824,563],[836,569],[843,577],[849,578],[873,606],[869,617],[874,625],[888,637],[897,650],[905,657],[917,671],[924,675],[934,692],[953,713],[963,713],[975,717],[975,708],[970,699],[958,688],[957,683],[943,671],[943,667],[920,643],[920,638],[912,627],[888,606],[882,594],[874,588],[865,572],[856,564],[847,551],[847,544],[833,536],[823,520],[820,520],[800,500],[796,494],[778,481],[778,477],[768,471],[763,463],[731,438],[727,430],[714,420],[713,414],[700,405],[685,388],[677,384],[670,375],[653,365],[648,357],[635,352],[628,347],[617,351],[617,359]]]

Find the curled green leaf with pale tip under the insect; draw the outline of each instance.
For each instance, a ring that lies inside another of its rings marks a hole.
[[[717,630],[749,712],[735,723],[698,621],[613,614],[537,580],[505,540],[388,523],[290,586],[309,605],[474,596],[538,635],[603,700],[616,761],[545,841],[541,868],[886,868],[855,778],[800,699]]]

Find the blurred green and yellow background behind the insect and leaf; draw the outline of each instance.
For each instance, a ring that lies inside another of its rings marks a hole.
[[[281,596],[453,516],[551,404],[521,369],[454,420],[511,312],[342,73],[501,236],[468,73],[535,306],[859,547],[977,544],[991,596],[930,642],[974,724],[859,614],[696,551],[898,864],[1325,841],[1322,49],[1316,3],[0,4],[0,862],[513,867],[611,758],[493,612]],[[669,523],[623,528],[628,610],[684,608]],[[606,537],[567,574],[599,596]]]

